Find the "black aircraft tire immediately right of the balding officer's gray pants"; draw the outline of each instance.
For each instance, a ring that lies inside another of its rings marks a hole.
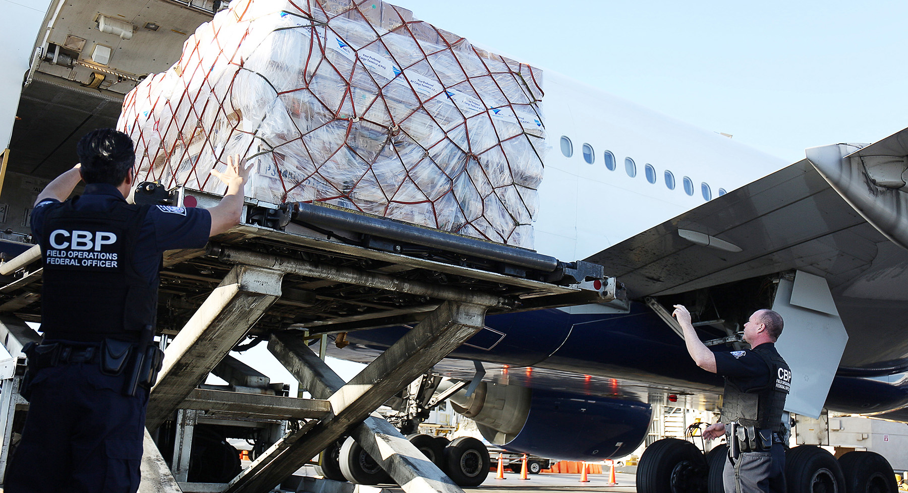
[[[845,493],[845,478],[833,454],[814,445],[799,445],[785,454],[788,493]]]

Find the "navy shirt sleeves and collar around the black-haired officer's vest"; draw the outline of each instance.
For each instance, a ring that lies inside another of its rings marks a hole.
[[[32,211],[32,234],[42,237],[47,205],[60,202],[44,199]],[[125,202],[123,194],[114,185],[89,183],[77,202],[82,210],[107,210],[112,202]],[[204,209],[152,206],[145,216],[142,229],[135,242],[133,264],[149,282],[158,277],[161,254],[177,248],[202,248],[208,242],[212,229],[212,215]]]

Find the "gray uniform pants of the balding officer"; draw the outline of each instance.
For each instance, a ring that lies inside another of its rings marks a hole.
[[[785,493],[785,448],[774,443],[765,452],[743,452],[733,466],[725,458],[725,493]]]

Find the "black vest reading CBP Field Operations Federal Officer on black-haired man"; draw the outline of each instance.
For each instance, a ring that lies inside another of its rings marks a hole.
[[[137,340],[157,314],[156,280],[133,267],[148,206],[114,202],[105,211],[80,211],[78,201],[47,206],[41,330],[46,339]]]

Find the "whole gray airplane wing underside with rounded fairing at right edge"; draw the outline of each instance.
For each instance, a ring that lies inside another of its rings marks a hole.
[[[587,260],[607,266],[632,299],[785,271],[822,277],[850,338],[839,374],[908,370],[906,141],[908,129],[869,146],[809,149],[809,159]]]

